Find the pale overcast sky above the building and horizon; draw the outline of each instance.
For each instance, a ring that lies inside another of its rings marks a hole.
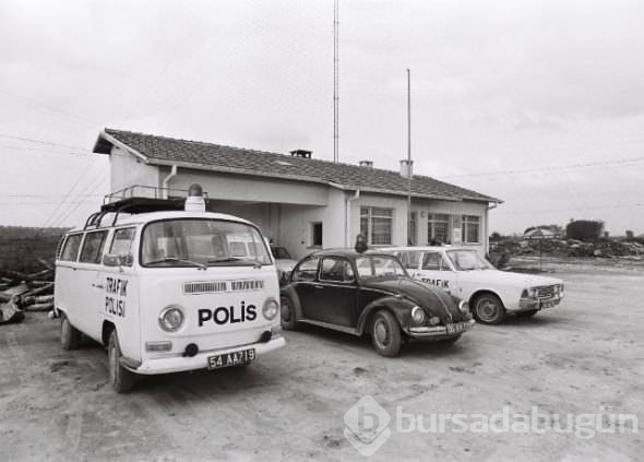
[[[644,2],[339,0],[339,159],[644,234]],[[72,226],[105,127],[333,159],[333,0],[0,0],[0,225]]]

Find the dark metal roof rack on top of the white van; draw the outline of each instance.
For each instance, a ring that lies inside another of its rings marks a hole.
[[[156,188],[153,186],[134,185],[105,196],[98,212],[91,214],[83,229],[99,228],[100,222],[108,213],[114,213],[111,226],[115,226],[121,213],[150,213],[164,211],[182,211],[187,189]],[[207,193],[204,193],[207,202]]]

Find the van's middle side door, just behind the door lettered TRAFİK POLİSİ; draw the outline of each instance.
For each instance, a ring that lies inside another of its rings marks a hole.
[[[79,325],[86,335],[100,342],[102,329],[96,313],[102,307],[104,285],[99,281],[103,250],[107,240],[107,229],[90,232],[85,235],[81,256],[76,265],[75,293],[77,294]]]

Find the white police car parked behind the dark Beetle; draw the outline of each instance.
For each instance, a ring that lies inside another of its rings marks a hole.
[[[498,324],[508,312],[534,316],[558,306],[563,282],[554,277],[499,271],[467,247],[389,247],[412,277],[469,301],[477,321]]]

